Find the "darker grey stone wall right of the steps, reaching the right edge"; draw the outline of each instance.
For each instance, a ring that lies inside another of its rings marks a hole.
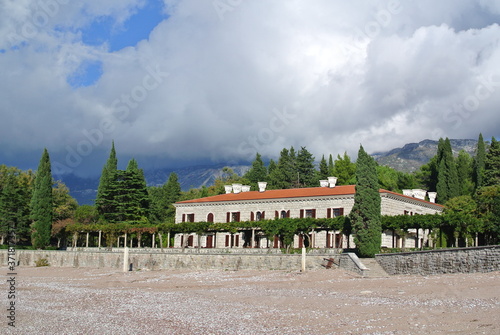
[[[379,254],[377,262],[390,275],[500,271],[500,245]]]

